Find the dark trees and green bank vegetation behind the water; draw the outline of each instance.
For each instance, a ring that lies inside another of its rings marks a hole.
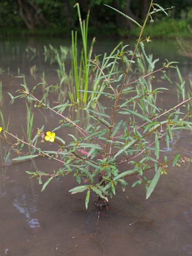
[[[70,35],[72,29],[79,27],[79,18],[73,8],[76,2],[77,0],[1,0],[0,34]],[[158,4],[161,2],[156,0]],[[79,0],[82,19],[86,18],[90,9],[89,34],[138,34],[130,20],[105,8],[104,3],[141,22],[146,16],[150,0]],[[187,25],[192,24],[191,0],[166,0],[163,4],[165,8],[175,6],[168,12],[171,20],[164,20],[160,14],[155,19],[155,24],[147,27],[146,32],[149,30],[151,36],[175,37],[180,34],[187,37]]]

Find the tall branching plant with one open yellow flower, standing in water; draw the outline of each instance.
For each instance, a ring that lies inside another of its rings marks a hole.
[[[174,68],[173,65],[177,62],[166,60],[161,67],[155,68],[159,59],[152,60],[152,57],[149,57],[145,51],[145,44],[151,43],[150,36],[142,38],[148,18],[154,22],[152,15],[160,11],[167,14],[166,10],[159,4],[153,3],[152,0],[146,20],[141,26],[126,14],[113,7],[109,8],[126,19],[132,20],[140,28],[140,34],[133,50],[129,49],[129,45],[125,45],[108,57],[108,67],[114,65],[117,68],[114,72],[108,73],[107,65],[100,66],[100,55],[94,59],[84,59],[84,61],[88,61],[89,67],[101,72],[102,75],[98,76],[95,81],[104,84],[105,88],[103,91],[93,89],[82,91],[87,95],[100,94],[104,96],[106,100],[109,99],[111,106],[107,107],[106,104],[99,110],[95,110],[92,107],[92,102],[97,98],[93,97],[84,106],[80,105],[77,100],[75,102],[66,101],[65,104],[50,107],[34,95],[35,89],[40,84],[34,86],[32,92],[29,92],[24,84],[23,88],[18,91],[20,95],[15,96],[14,99],[26,98],[34,102],[35,108],[52,111],[53,114],[60,117],[59,124],[48,132],[44,132],[44,126],[38,128],[36,135],[26,141],[1,127],[1,133],[4,132],[17,141],[12,144],[11,149],[20,145],[22,148],[24,145],[32,148],[28,153],[16,150],[19,155],[13,160],[23,161],[41,156],[61,164],[61,168],[52,173],[40,170],[26,171],[31,177],[38,178],[39,184],[43,183],[42,177],[47,178],[42,186],[42,191],[54,178],[71,174],[79,185],[70,189],[69,192],[76,194],[86,191],[86,208],[91,191],[98,195],[96,202],[98,207],[107,206],[109,196],[112,197],[116,193],[116,186],[120,184],[122,190],[125,191],[127,182],[131,182],[132,176],[137,178],[137,181],[132,183],[132,187],[143,184],[146,188],[147,199],[155,189],[160,176],[167,174],[168,164],[172,163],[173,167],[180,167],[185,161],[189,161],[184,155],[166,156],[165,151],[161,148],[163,145],[169,151],[170,141],[174,141],[177,129],[192,129],[192,122],[188,120],[192,116],[192,97],[185,98],[185,84],[182,83],[180,85],[182,100],[176,106],[163,110],[154,104],[156,95],[168,90],[157,86],[155,75],[161,73],[172,84],[166,70]],[[142,54],[137,54],[138,48]],[[143,74],[143,69],[139,69],[138,77],[130,81],[131,67],[136,65],[137,59],[145,59],[149,67],[146,68],[146,74]],[[123,67],[123,70],[120,66]],[[150,82],[147,80],[149,77],[152,77]],[[181,112],[179,107],[184,104],[186,105],[185,111]],[[75,112],[85,113],[86,118],[84,119],[92,121],[85,126],[82,120],[81,122],[73,120],[66,114],[67,108],[74,108]],[[68,135],[65,134],[67,127],[70,127],[72,131]],[[58,134],[62,129],[64,129],[62,133],[64,135],[60,137]],[[43,142],[47,147],[46,150],[41,149],[40,143]],[[55,149],[48,150],[50,142],[54,143]],[[9,155],[10,150],[7,152],[6,159]],[[160,155],[164,156],[164,160]],[[150,174],[153,172],[152,179],[146,176],[147,171]]]

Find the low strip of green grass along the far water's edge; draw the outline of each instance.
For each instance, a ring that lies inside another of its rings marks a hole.
[[[192,27],[192,19],[177,20],[177,19],[162,19],[155,20],[154,23],[146,25],[145,35],[151,37],[164,38],[191,38],[192,33],[189,33],[188,26]],[[79,27],[76,28],[79,30]],[[121,36],[135,37],[139,32],[139,27],[133,27],[131,30],[125,27],[116,27],[114,24],[103,24],[102,27],[89,27],[88,34],[90,36]],[[80,34],[80,31],[78,31]],[[15,37],[15,36],[67,36],[71,35],[71,31],[66,27],[46,28],[38,30],[28,30],[17,28],[0,28],[0,37]]]

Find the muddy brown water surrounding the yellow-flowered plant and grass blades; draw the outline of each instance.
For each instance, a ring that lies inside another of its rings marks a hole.
[[[14,94],[23,82],[18,77],[18,67],[21,74],[26,74],[30,88],[39,82],[44,69],[48,84],[58,80],[53,72],[54,67],[44,63],[42,54],[33,61],[26,59],[27,45],[41,51],[45,43],[47,39],[0,42],[0,66],[5,70],[0,75],[4,96],[2,109],[6,121],[10,115],[9,131],[13,134],[22,135],[20,126],[26,126],[25,102],[17,100],[10,105],[7,94],[7,91]],[[57,46],[64,44],[64,40],[51,39],[50,43]],[[176,47],[172,46],[172,42],[157,41],[152,51],[157,56],[160,54],[161,58],[165,54],[165,58],[168,55],[170,60],[179,59],[179,67],[187,80],[192,74],[192,61],[177,55]],[[106,42],[100,42],[98,51],[105,49]],[[37,65],[36,76],[29,72],[33,65]],[[173,70],[172,78],[177,80],[174,72]],[[165,85],[167,82],[163,83]],[[38,90],[37,93],[42,94]],[[162,104],[167,104],[167,107],[176,102],[175,92],[164,96]],[[34,127],[43,124],[46,129],[54,127],[55,119],[50,112],[36,114]],[[70,131],[65,132],[68,134]],[[0,140],[1,166],[7,149],[7,144]],[[178,131],[167,155],[179,153],[192,159],[192,134],[189,131]],[[51,172],[57,168],[60,168],[58,163],[44,158],[19,164],[13,164],[10,158],[7,166],[0,168],[0,255],[192,255],[191,164],[180,169],[169,168],[168,175],[161,176],[148,200],[145,199],[144,187],[131,188],[133,178],[128,181],[130,184],[125,192],[120,187],[117,188],[108,210],[95,207],[95,195],[91,195],[89,208],[86,210],[85,194],[71,195],[68,192],[77,185],[71,176],[53,180],[46,190],[40,192],[38,181],[29,179],[25,172],[36,169]],[[127,167],[125,165],[121,168],[126,170]]]

